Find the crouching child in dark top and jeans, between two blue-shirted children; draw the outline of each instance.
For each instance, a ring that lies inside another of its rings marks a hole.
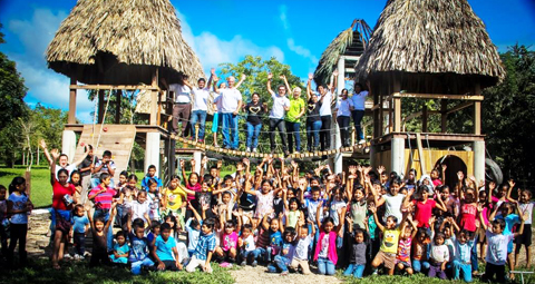
[[[132,249],[128,262],[132,266],[132,274],[139,275],[143,267],[153,267],[154,262],[149,257],[149,242],[145,236],[145,224],[139,218],[135,219],[134,223],[139,223],[140,225],[134,225],[134,232],[129,229],[128,238],[130,239]]]

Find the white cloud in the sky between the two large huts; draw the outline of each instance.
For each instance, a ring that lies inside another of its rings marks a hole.
[[[210,31],[203,31],[195,36],[186,17],[178,10],[176,14],[181,20],[182,36],[195,50],[206,72],[220,63],[236,63],[246,55],[260,56],[264,59],[275,57],[279,61],[284,61],[284,52],[279,47],[260,47],[240,35],[234,36],[231,40],[220,39]]]

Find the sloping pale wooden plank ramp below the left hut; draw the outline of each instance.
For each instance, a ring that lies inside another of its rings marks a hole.
[[[101,131],[100,128],[103,128]],[[82,145],[93,145],[94,155],[98,158],[103,158],[103,153],[109,150],[111,160],[117,167],[114,179],[118,182],[120,172],[128,167],[135,139],[136,126],[134,125],[84,125],[74,160],[79,159],[84,154]]]

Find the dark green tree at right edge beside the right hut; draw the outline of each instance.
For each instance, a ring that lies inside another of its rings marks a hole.
[[[515,45],[500,55],[504,81],[484,90],[483,131],[489,154],[505,177],[535,182],[535,52]]]

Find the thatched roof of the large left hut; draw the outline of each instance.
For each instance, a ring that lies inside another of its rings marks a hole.
[[[203,68],[168,0],[78,0],[47,49],[49,68],[84,84],[169,82]],[[192,81],[193,81],[192,80]]]

